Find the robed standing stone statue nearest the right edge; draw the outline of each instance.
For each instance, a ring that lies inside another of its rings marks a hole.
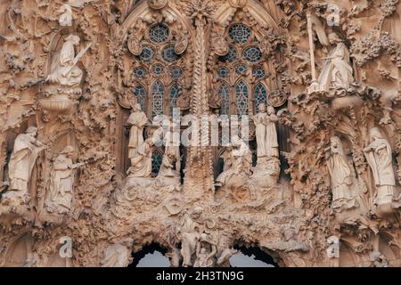
[[[372,168],[377,188],[375,204],[388,204],[393,199],[396,187],[391,147],[377,127],[371,129],[370,138],[371,143],[364,149],[364,156]]]

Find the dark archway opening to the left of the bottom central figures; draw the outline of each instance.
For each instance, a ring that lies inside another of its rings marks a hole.
[[[158,243],[144,246],[140,251],[132,254],[133,262],[128,267],[169,267],[168,250],[160,247]],[[138,266],[139,265],[139,266]],[[168,265],[168,266],[166,266]]]

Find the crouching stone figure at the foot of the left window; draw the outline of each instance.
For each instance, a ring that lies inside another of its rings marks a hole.
[[[154,145],[153,139],[144,141],[131,159],[132,166],[129,167],[127,174],[129,177],[151,177],[151,151]]]

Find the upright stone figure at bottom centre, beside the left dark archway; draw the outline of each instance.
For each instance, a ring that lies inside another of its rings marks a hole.
[[[198,241],[200,240],[200,229],[198,224],[193,222],[188,215],[185,216],[183,232],[181,233],[181,256],[183,256],[183,266],[192,266],[192,256],[196,254]]]

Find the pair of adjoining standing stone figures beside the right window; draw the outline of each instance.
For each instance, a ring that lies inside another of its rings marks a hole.
[[[262,157],[278,157],[278,142],[277,130],[275,123],[278,117],[275,115],[275,110],[272,106],[264,103],[259,105],[260,112],[253,117],[256,125],[256,138],[258,143],[258,158]]]

